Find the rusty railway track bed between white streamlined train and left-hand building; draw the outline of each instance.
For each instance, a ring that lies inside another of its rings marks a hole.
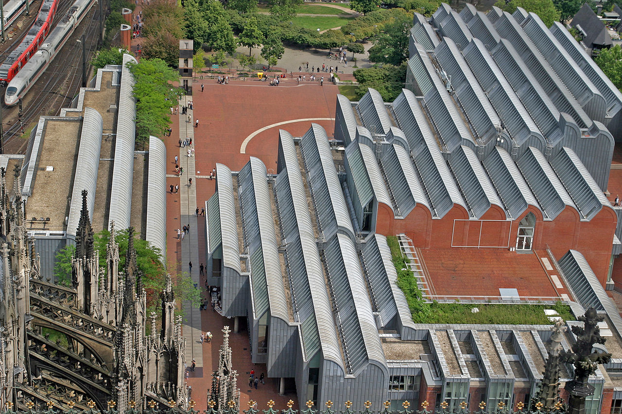
[[[100,0],[101,1],[101,0]],[[58,19],[65,16],[72,2],[63,5],[62,10],[56,14]],[[19,108],[16,106],[9,108],[2,103],[2,113],[4,121],[4,153],[22,154],[27,146],[27,139],[20,140],[22,129],[25,129],[30,122],[35,121],[42,115],[59,115],[60,109],[67,107],[72,99],[80,90],[81,86],[81,57],[82,45],[77,42],[81,36],[85,35],[86,60],[90,61],[97,48],[99,24],[99,7],[91,7],[88,15],[78,25],[67,44],[58,52],[58,56],[50,63],[47,71],[41,76],[37,84],[32,86],[22,102],[21,122],[19,119]],[[57,19],[55,18],[55,23]],[[0,93],[4,96],[4,89]],[[8,127],[6,125],[9,124]],[[23,141],[23,142],[22,142]]]

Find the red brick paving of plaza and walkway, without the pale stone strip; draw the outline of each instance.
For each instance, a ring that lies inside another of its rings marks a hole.
[[[325,83],[324,86],[305,85],[295,86],[295,81],[285,79],[281,86],[269,86],[256,80],[231,80],[229,85],[218,85],[215,80],[204,80],[205,89],[201,92],[201,82],[195,83],[193,96],[194,118],[199,119],[199,127],[194,129],[195,134],[195,163],[197,175],[209,175],[216,162],[223,163],[237,171],[248,162],[249,157],[259,157],[267,168],[276,167],[279,127],[261,132],[248,144],[246,154],[240,154],[243,140],[254,131],[277,122],[290,121],[300,118],[333,117],[335,102],[337,101],[337,86]],[[333,121],[318,121],[318,124],[327,129],[328,136],[334,130]],[[170,137],[165,137],[168,163],[167,174],[174,174],[175,154],[179,154],[179,116],[172,116],[173,130]],[[286,124],[286,129],[294,136],[302,136],[310,127],[310,122],[295,122]],[[183,183],[185,179],[183,177]],[[205,201],[215,191],[215,181],[205,178],[196,179],[197,206],[202,208]],[[180,185],[180,178],[167,178],[167,186]],[[167,187],[167,190],[169,188]],[[192,204],[192,203],[191,203]],[[180,228],[179,194],[167,195],[167,259],[170,263],[178,264],[181,259],[180,243],[177,241],[176,229]],[[198,224],[199,257],[205,258],[205,220]],[[205,263],[205,259],[202,260]],[[205,285],[202,279],[201,286]],[[228,320],[214,311],[202,312],[203,330],[210,330],[214,334],[212,343],[203,345],[203,369],[192,373],[188,385],[192,386],[192,398],[197,402],[195,409],[207,408],[207,392],[211,386],[211,372],[218,367],[218,349],[222,343],[221,329],[224,325],[233,329],[233,320]],[[238,370],[238,385],[241,391],[240,402],[242,408],[247,408],[248,401],[258,401],[258,408],[265,409],[270,399],[276,402],[276,407],[286,408],[285,403],[294,394],[280,397],[278,379],[266,378],[266,384],[259,384],[259,388],[249,389],[248,377],[251,369],[259,375],[266,372],[265,366],[254,365],[251,362],[248,333],[231,333],[230,345],[234,356],[234,368]],[[297,405],[297,404],[296,404]],[[297,408],[297,407],[294,407]]]

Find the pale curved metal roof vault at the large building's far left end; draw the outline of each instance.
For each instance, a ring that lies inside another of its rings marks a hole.
[[[216,163],[216,193],[220,211],[220,239],[223,246],[223,265],[241,273],[239,264],[238,221],[236,219],[235,198],[233,194],[231,170]]]

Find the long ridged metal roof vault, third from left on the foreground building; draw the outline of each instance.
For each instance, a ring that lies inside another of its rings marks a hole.
[[[276,178],[277,202],[292,283],[290,295],[295,318],[301,324],[303,349],[307,359],[322,349],[323,357],[343,369],[294,139],[283,130],[279,139],[285,168]]]

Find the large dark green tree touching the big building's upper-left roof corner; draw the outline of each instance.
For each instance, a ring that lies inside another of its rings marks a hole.
[[[412,26],[412,16],[404,14],[393,22],[385,24],[384,29],[372,38],[369,48],[371,62],[400,65],[408,60],[408,37]]]

